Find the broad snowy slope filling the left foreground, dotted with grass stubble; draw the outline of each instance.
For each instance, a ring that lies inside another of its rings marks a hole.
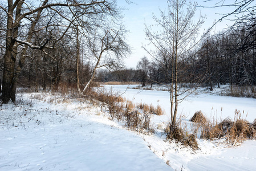
[[[99,107],[47,98],[0,107],[0,170],[172,170]]]

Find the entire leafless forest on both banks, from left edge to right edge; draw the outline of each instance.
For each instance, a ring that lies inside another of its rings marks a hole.
[[[204,20],[200,18],[197,25],[192,25],[196,6],[188,8],[187,25],[182,25],[182,18],[175,21],[161,11],[160,19],[153,16],[156,23],[177,23],[191,34],[173,39],[184,44],[166,45],[172,42],[174,32],[156,35],[146,25],[145,34],[156,50],[144,47],[149,55],[138,56],[141,59],[136,68],[127,68],[123,63],[131,47],[125,42],[128,30],[120,22],[123,9],[116,1],[1,2],[1,99],[3,103],[15,101],[17,87],[36,92],[72,87],[83,92],[94,85],[92,82],[110,81],[140,82],[142,86],[193,83],[211,90],[229,84],[231,89],[247,87],[242,89],[255,93],[256,21],[251,2],[230,3],[237,10],[227,15],[243,15],[228,30],[214,35],[196,33]],[[167,30],[170,25],[161,26]],[[200,41],[186,46],[198,36]]]

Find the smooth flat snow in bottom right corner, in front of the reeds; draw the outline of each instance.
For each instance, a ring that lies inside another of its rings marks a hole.
[[[187,166],[190,170],[255,170],[255,144],[245,141],[239,147],[221,149],[221,155],[195,158]]]

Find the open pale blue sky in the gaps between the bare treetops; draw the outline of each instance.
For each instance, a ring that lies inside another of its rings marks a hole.
[[[142,44],[147,44],[147,41],[145,41],[145,26],[151,25],[154,23],[152,19],[152,14],[155,14],[156,16],[159,16],[159,9],[165,10],[167,7],[167,0],[132,0],[131,4],[128,4],[125,2],[125,0],[118,0],[117,4],[119,6],[125,7],[126,10],[123,11],[124,14],[124,25],[127,27],[127,30],[129,30],[127,40],[128,43],[132,47],[132,54],[127,56],[128,58],[125,59],[125,64],[128,68],[136,67],[137,62],[140,60],[140,58],[143,58],[143,56],[147,56],[149,59],[149,55],[147,52],[141,48]],[[196,1],[198,3],[198,6],[214,6],[218,0],[213,1],[207,1],[200,0]],[[197,8],[197,16],[206,15],[205,23],[202,25],[201,32],[204,32],[204,29],[209,28],[213,25],[213,22],[216,19],[221,18],[222,15],[220,13],[228,13],[233,9],[229,8],[203,8],[198,7]],[[198,18],[194,18],[195,21]],[[227,27],[227,23],[230,23],[230,21],[222,21],[221,23],[218,23],[214,28],[213,32],[218,32],[223,30]]]

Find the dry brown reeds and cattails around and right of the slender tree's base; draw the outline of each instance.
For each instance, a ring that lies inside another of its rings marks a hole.
[[[238,116],[236,112],[236,115]],[[189,134],[185,129],[181,128],[180,121],[176,124],[169,123],[165,128],[166,138],[178,141],[185,146],[190,146],[193,150],[198,149],[196,141],[197,135],[202,139],[220,140],[229,146],[239,145],[244,140],[256,139],[256,119],[253,123],[241,117],[231,120],[229,117],[222,120],[220,123],[208,120],[201,111],[194,113],[190,118],[192,124],[191,130],[193,133]]]

